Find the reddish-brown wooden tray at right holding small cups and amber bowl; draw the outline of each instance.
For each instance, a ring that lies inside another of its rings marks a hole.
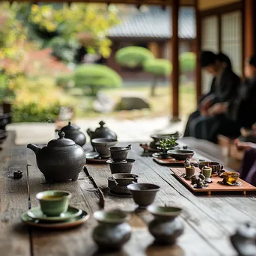
[[[181,174],[185,172],[185,168],[171,168],[171,171],[173,171],[174,175],[186,186],[189,187],[193,192],[207,192],[208,195],[211,195],[212,192],[243,192],[243,195],[246,195],[247,191],[256,191],[256,187],[252,186],[251,184],[247,183],[244,180],[238,179],[242,183],[241,186],[228,186],[219,184],[218,181],[222,181],[222,178],[220,178],[217,174],[213,174],[212,180],[213,183],[210,183],[209,186],[207,186],[204,189],[195,189],[194,186],[191,184],[190,180],[185,180],[183,177],[181,177]],[[200,173],[199,168],[195,168],[195,171]]]

